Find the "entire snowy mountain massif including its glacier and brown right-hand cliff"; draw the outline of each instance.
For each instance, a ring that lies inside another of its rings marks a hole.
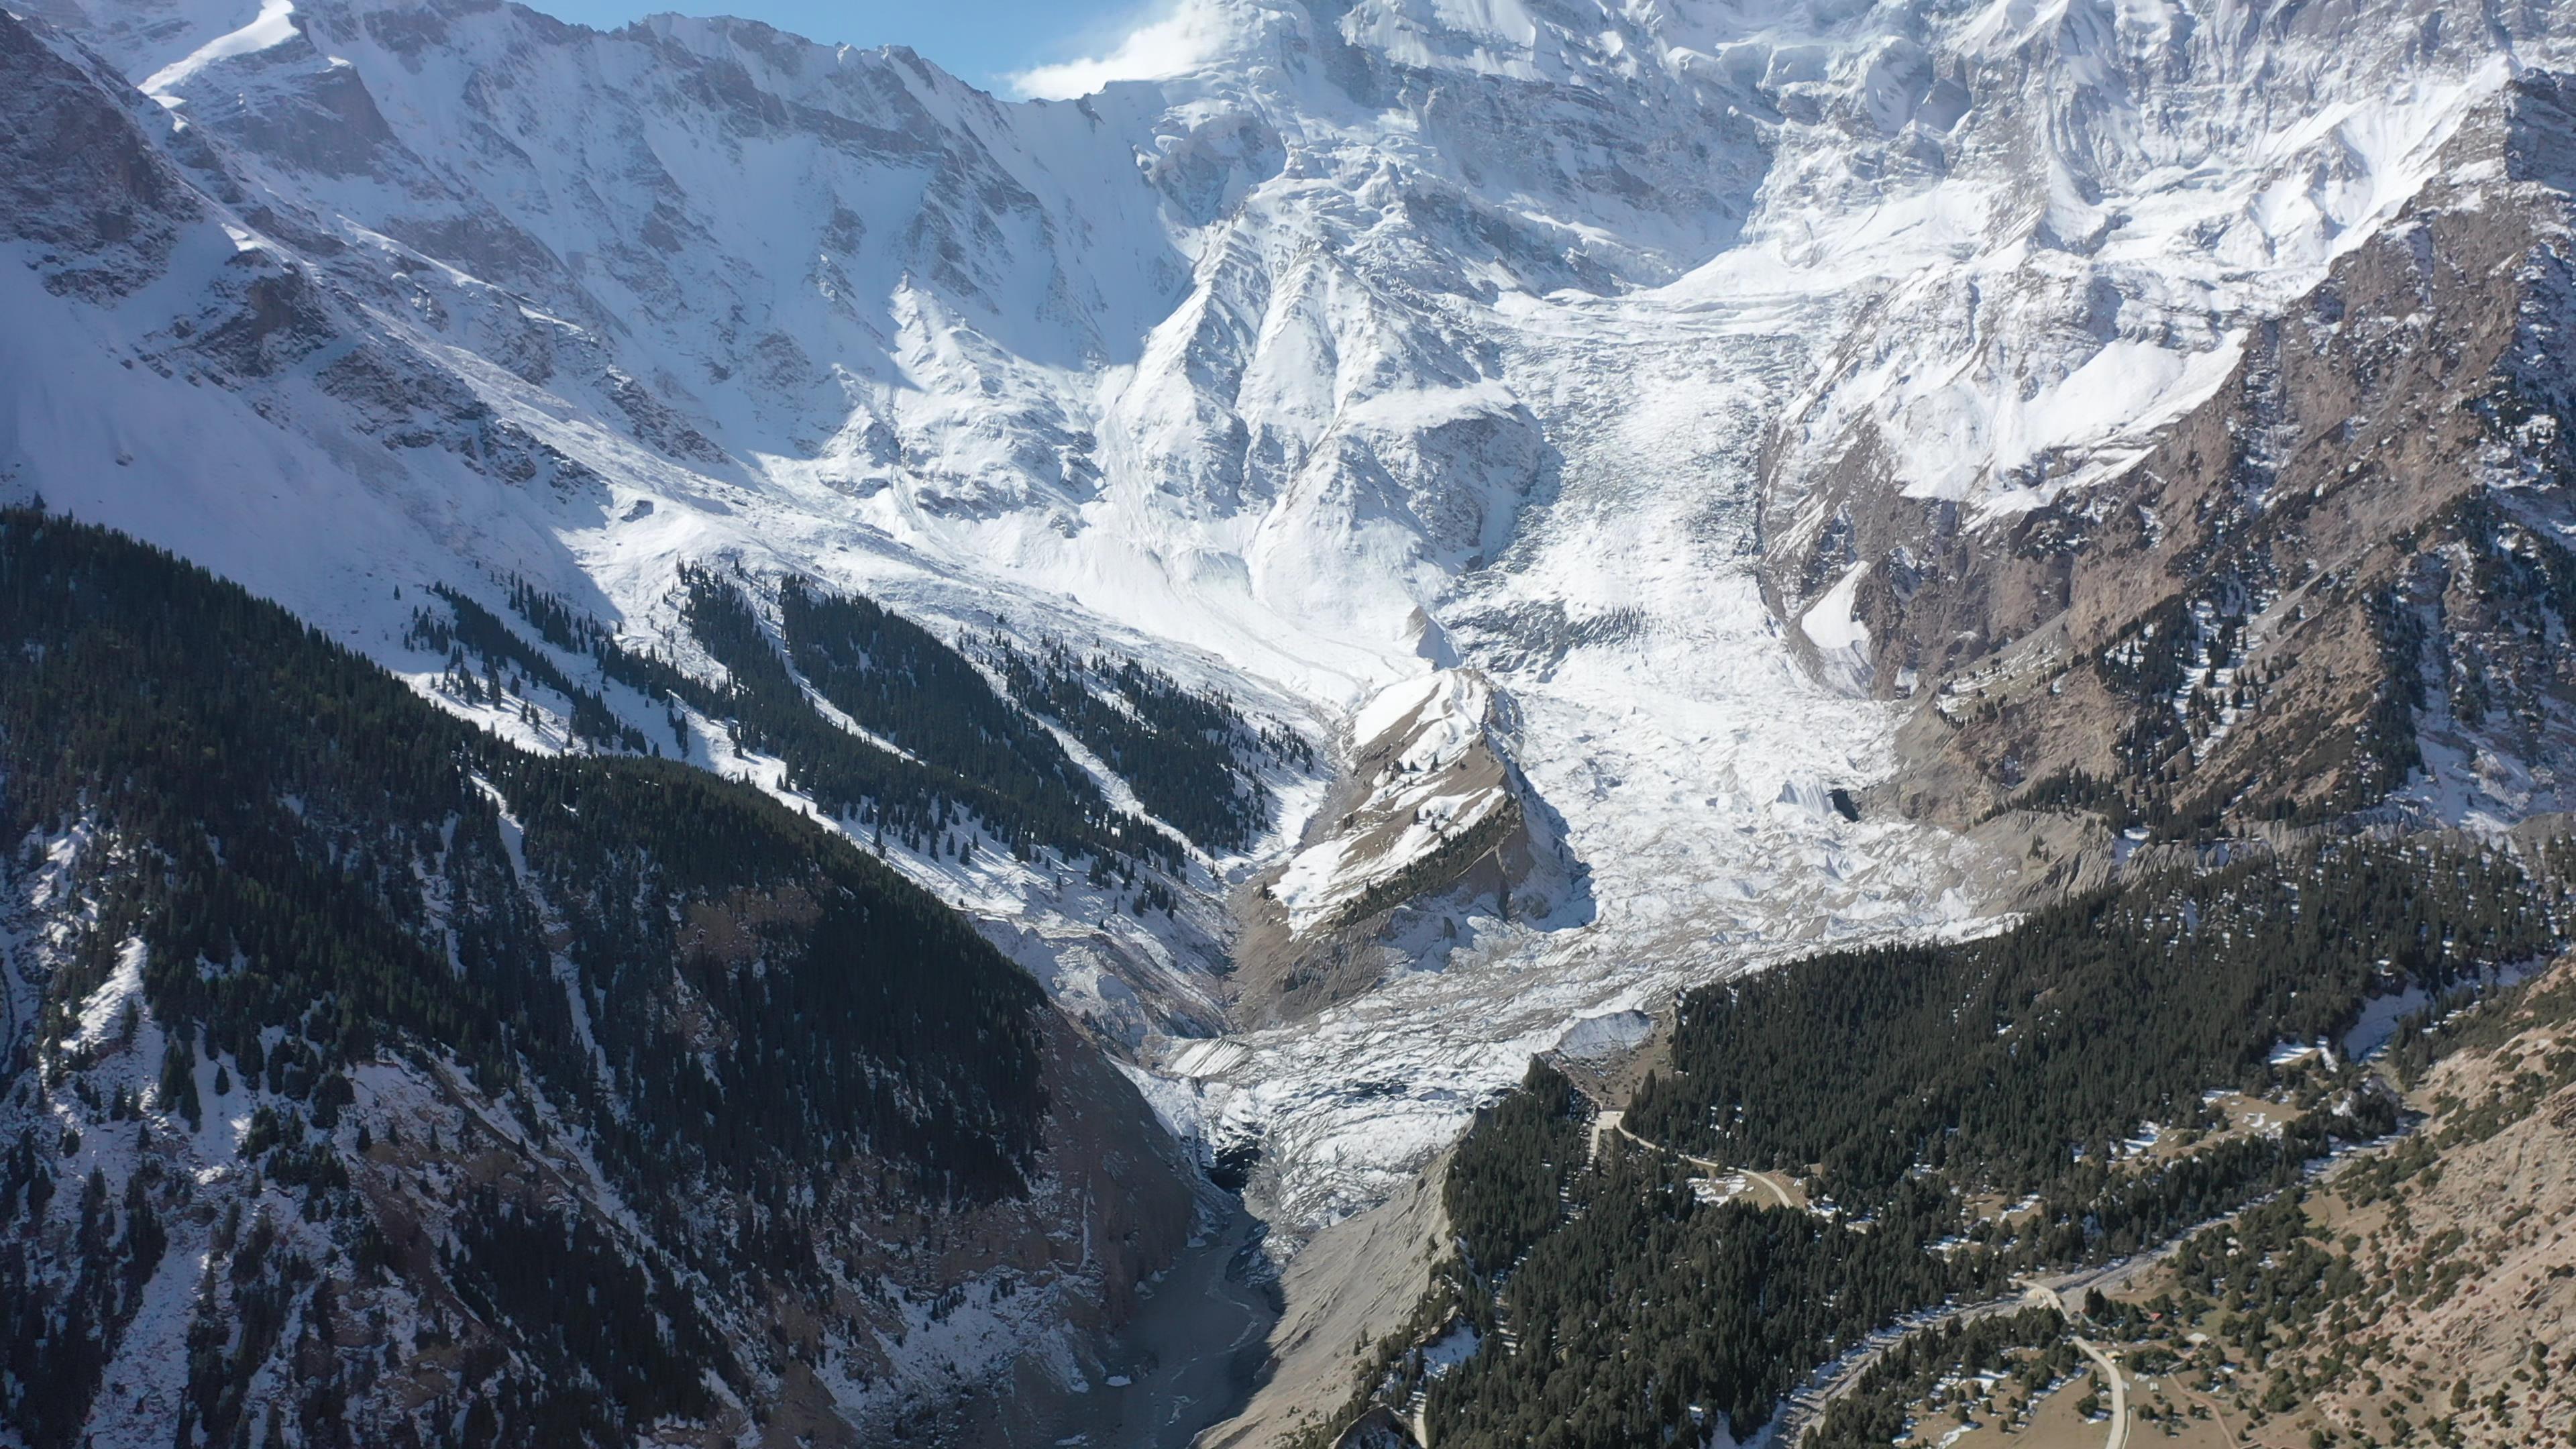
[[[52,0],[0,26],[0,487],[469,712],[430,585],[729,681],[688,565],[1221,691],[1260,838],[886,851],[1257,1145],[1283,1238],[1582,1021],[2115,830],[2561,807],[2563,8],[1190,15],[1177,75],[999,103],[739,21]],[[1288,745],[1432,696],[1473,786]],[[528,701],[482,717],[559,748]],[[1450,871],[1486,812],[1540,848]]]

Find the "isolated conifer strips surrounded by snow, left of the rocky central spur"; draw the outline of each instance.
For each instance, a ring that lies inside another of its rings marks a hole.
[[[724,748],[778,755],[791,789],[876,841],[922,853],[999,848],[1025,861],[1051,848],[1066,861],[1090,859],[1095,882],[1115,874],[1128,884],[1139,866],[1182,866],[1180,841],[1115,810],[1041,719],[1090,748],[1157,820],[1211,851],[1249,848],[1270,828],[1275,802],[1262,766],[1314,768],[1296,732],[1257,730],[1221,694],[1182,688],[1133,660],[1077,660],[1064,647],[1023,655],[997,642],[997,688],[930,629],[799,578],[778,585],[773,637],[747,580],[683,570],[680,616],[724,668],[721,683],[621,645],[526,580],[510,580],[510,608],[580,670],[474,598],[435,593],[438,606],[415,611],[407,642],[448,655],[446,686],[459,699],[502,704],[546,688],[564,701],[577,743],[659,755],[665,740],[603,699],[605,683],[618,683],[667,712],[675,753],[688,753],[683,712],[696,712],[724,727]],[[860,732],[829,719],[817,699]],[[1144,892],[1164,895],[1154,884]]]

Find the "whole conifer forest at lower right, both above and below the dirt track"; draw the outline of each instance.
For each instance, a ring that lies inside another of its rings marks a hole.
[[[1646,1145],[1595,1150],[1595,1104],[1533,1062],[1450,1158],[1455,1258],[1368,1361],[1360,1405],[1419,1395],[1443,1446],[1698,1441],[1721,1418],[1749,1436],[1909,1312],[2169,1240],[2396,1129],[2347,1055],[2280,1047],[2334,1047],[2375,998],[2439,1003],[2555,954],[2558,856],[2336,841],[2146,877],[1981,941],[1713,985],[1682,998],[1669,1067],[1620,1104]],[[2287,1101],[2293,1122],[2226,1132],[2218,1091]],[[2125,1142],[2148,1124],[2172,1150]],[[1710,1194],[1682,1152],[1780,1171],[1816,1201]],[[1432,1372],[1409,1343],[1443,1320],[1481,1348]],[[1989,1320],[1924,1351],[1947,1364],[2032,1333]],[[1914,1369],[1870,1379],[1832,1434],[1878,1423],[1870,1405]]]

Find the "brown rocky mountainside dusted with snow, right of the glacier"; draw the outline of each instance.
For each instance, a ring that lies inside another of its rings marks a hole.
[[[1981,531],[1852,513],[1868,678],[1932,694],[1888,804],[2179,835],[2563,810],[2566,137],[2553,75],[2488,101],[2117,477]]]

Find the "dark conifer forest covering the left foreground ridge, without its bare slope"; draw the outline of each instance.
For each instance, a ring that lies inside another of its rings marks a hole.
[[[461,647],[510,650],[456,619]],[[237,585],[33,511],[0,513],[0,629],[5,869],[90,902],[8,1091],[75,1093],[137,1163],[111,1191],[57,1168],[75,1132],[0,1142],[0,1423],[28,1444],[75,1444],[175,1271],[170,1225],[209,1212],[144,1106],[201,1132],[260,1104],[240,1171],[301,1217],[211,1222],[183,1446],[273,1441],[245,1395],[276,1354],[304,1444],[626,1444],[783,1366],[693,1284],[827,1307],[876,1281],[824,1248],[848,1222],[1030,1189],[1036,985],[850,841],[680,763],[502,745]],[[118,972],[139,980],[98,1018]],[[147,1044],[126,1085],[113,1062]],[[520,1127],[435,1106],[446,1129],[371,1134],[353,1083],[392,1091],[389,1065]],[[562,1134],[629,1227],[492,1176],[528,1160],[495,1147]],[[371,1207],[368,1160],[417,1160],[453,1232]],[[412,1338],[340,1307],[392,1281],[422,1305]],[[348,1421],[407,1354],[446,1387]]]

